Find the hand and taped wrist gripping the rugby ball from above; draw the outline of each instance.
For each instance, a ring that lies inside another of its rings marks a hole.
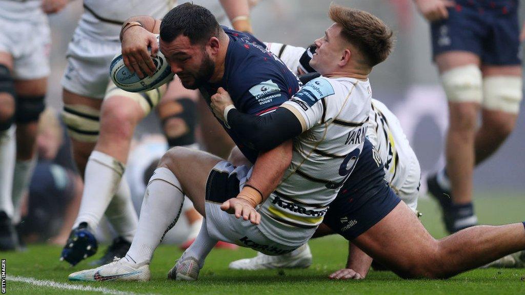
[[[150,16],[134,16],[124,22],[120,31],[124,64],[141,79],[153,75],[156,69],[151,56],[159,51],[155,34],[159,34],[160,23],[159,19]]]

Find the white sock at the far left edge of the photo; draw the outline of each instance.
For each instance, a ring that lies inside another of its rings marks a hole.
[[[0,211],[13,217],[13,173],[15,170],[15,127],[0,132]]]

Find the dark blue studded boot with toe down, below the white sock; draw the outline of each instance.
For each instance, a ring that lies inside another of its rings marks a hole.
[[[60,261],[66,260],[71,266],[75,266],[83,259],[94,255],[97,249],[97,239],[89,231],[88,224],[83,222],[71,230],[66,246],[62,249]]]

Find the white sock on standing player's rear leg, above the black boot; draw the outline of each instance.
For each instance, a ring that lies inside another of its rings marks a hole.
[[[125,177],[120,181],[119,189],[106,209],[106,217],[117,234],[131,243],[139,217],[133,207],[130,187]]]

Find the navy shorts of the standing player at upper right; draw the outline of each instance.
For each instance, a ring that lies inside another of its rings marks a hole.
[[[486,65],[520,65],[518,0],[456,0],[449,17],[431,23],[433,57],[469,51]]]

